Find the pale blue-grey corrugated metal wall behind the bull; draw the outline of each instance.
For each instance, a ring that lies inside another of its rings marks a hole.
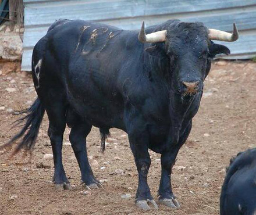
[[[24,0],[22,70],[31,70],[33,46],[56,19],[84,19],[123,29],[140,28],[181,19],[203,22],[209,28],[232,31],[236,22],[240,39],[226,43],[231,59],[256,56],[256,0]]]

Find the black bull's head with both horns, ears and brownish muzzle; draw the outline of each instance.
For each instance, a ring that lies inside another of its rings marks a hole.
[[[166,22],[168,23],[168,22]],[[194,95],[202,91],[203,81],[211,68],[211,59],[218,54],[230,53],[224,46],[211,40],[236,41],[239,33],[236,24],[233,33],[208,29],[202,23],[173,21],[165,30],[145,34],[144,22],[138,40],[153,44],[145,49],[151,55],[161,55],[170,63],[168,71],[172,74],[172,86],[183,95]]]

